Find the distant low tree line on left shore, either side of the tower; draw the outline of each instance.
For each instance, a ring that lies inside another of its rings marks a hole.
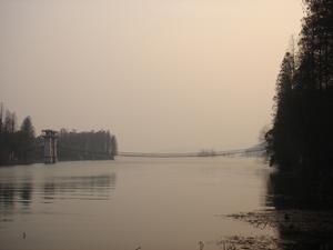
[[[118,152],[115,136],[110,131],[77,132],[61,129],[58,133],[58,160],[107,160]],[[43,138],[36,136],[31,117],[18,128],[14,112],[0,106],[0,166],[43,162]]]

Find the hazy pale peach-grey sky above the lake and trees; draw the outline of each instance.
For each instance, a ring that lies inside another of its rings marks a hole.
[[[121,151],[253,146],[301,2],[0,0],[0,101]]]

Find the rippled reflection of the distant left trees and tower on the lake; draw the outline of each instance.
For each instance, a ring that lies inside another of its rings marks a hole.
[[[39,198],[48,203],[57,199],[110,199],[110,190],[115,188],[117,174],[112,172],[99,176],[65,176],[44,180],[24,178],[23,181],[16,178],[1,179],[0,212],[11,213],[16,208],[28,209],[31,202]],[[19,207],[20,204],[22,207]]]

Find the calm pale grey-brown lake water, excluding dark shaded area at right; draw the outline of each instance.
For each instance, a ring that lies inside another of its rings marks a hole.
[[[139,159],[0,168],[0,249],[220,249],[275,233],[223,217],[265,208],[269,169],[246,158]]]

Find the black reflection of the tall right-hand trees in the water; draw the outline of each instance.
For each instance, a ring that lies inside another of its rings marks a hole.
[[[269,206],[282,249],[325,250],[333,248],[333,187],[329,178],[273,172],[268,181]]]

